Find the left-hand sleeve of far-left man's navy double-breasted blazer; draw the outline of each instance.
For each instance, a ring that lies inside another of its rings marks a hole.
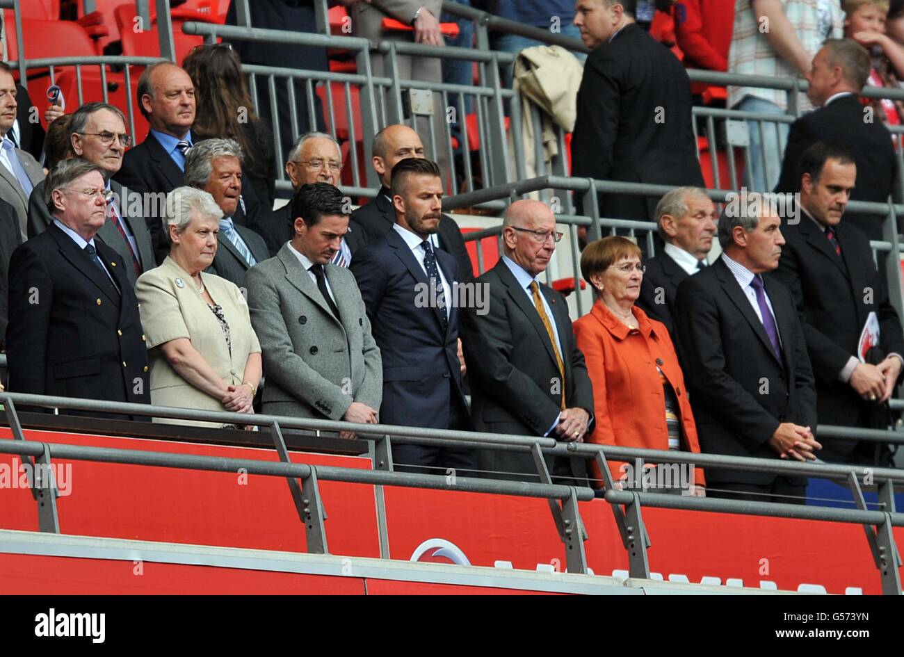
[[[46,394],[47,340],[53,305],[53,282],[42,258],[22,246],[10,260],[9,325],[6,358],[10,390]]]

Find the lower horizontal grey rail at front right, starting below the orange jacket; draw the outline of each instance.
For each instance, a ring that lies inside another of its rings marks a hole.
[[[319,473],[319,468],[317,470]],[[697,498],[691,495],[664,495],[662,493],[636,493],[643,507],[659,509],[683,509],[685,511],[706,511],[717,513],[740,513],[742,515],[769,516],[772,518],[794,518],[807,521],[850,522],[852,524],[884,524],[885,512],[836,509],[826,506],[805,504],[784,504],[781,502],[746,502],[740,500],[720,500],[719,498]],[[628,504],[634,501],[635,493],[610,490],[605,499],[610,504]],[[891,524],[904,527],[904,513],[890,513]]]

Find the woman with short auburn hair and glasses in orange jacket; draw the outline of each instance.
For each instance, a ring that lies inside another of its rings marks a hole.
[[[634,242],[617,236],[592,242],[580,258],[581,273],[597,298],[589,314],[574,323],[593,381],[597,425],[588,440],[699,454],[697,427],[672,339],[664,324],[634,305],[645,271],[640,258]],[[619,462],[609,461],[609,467],[616,482],[632,472]],[[673,468],[669,471],[674,473]],[[642,474],[633,474],[639,487]],[[662,484],[664,477],[653,474],[646,479]],[[628,487],[630,480],[623,483]],[[667,488],[676,491],[679,483],[672,483]],[[702,469],[693,469],[693,483],[693,494],[704,496]]]

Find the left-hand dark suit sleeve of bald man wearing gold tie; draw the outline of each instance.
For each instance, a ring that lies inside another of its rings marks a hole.
[[[480,380],[481,386],[527,427],[539,424],[545,431],[559,417],[561,409],[535,380],[513,366],[514,345],[508,305],[499,286],[490,285],[489,289],[489,313],[481,315],[477,314],[476,308],[466,308],[462,314],[461,343],[468,375]],[[573,334],[571,339],[574,339]],[[536,346],[538,350],[543,349],[539,343]],[[580,365],[586,374],[583,360],[581,354]],[[592,392],[589,410],[593,410]],[[540,423],[536,421],[538,417],[542,418]]]

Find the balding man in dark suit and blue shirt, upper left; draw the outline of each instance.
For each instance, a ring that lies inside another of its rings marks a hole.
[[[194,145],[194,85],[182,68],[167,61],[148,66],[138,78],[137,103],[151,129],[141,144],[127,150],[122,166],[114,178],[129,194],[155,194],[162,199],[166,192],[189,184],[184,178],[185,157]],[[259,211],[257,195],[250,184],[233,221],[244,226],[253,224]],[[150,203],[159,210],[161,204]],[[145,217],[154,241],[158,262],[163,262],[169,245],[163,235],[160,212]]]

